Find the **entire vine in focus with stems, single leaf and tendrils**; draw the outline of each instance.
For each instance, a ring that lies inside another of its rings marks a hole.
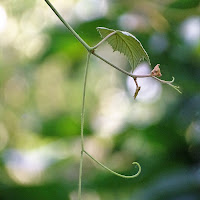
[[[62,21],[62,23],[66,26],[66,28],[72,33],[72,35],[85,47],[85,49],[88,52],[87,55],[87,62],[86,62],[86,68],[85,68],[85,75],[84,75],[84,85],[83,85],[83,97],[82,97],[82,109],[81,109],[81,155],[80,155],[80,169],[79,169],[79,188],[78,188],[78,200],[81,200],[81,184],[82,184],[82,169],[83,169],[83,155],[87,155],[89,158],[91,158],[93,161],[95,161],[97,164],[99,164],[101,167],[103,167],[104,169],[108,170],[109,172],[111,172],[112,174],[116,175],[116,176],[120,176],[122,178],[135,178],[137,177],[140,172],[141,172],[141,166],[138,162],[133,162],[133,165],[136,165],[138,167],[138,171],[136,174],[134,175],[123,175],[120,173],[117,173],[113,170],[111,170],[110,168],[106,167],[104,164],[102,164],[101,162],[99,162],[98,160],[96,160],[93,156],[91,156],[84,147],[84,114],[85,114],[85,96],[86,96],[86,85],[87,85],[87,74],[88,74],[88,67],[89,67],[89,60],[90,60],[90,56],[91,54],[96,56],[97,58],[99,58],[100,60],[102,60],[103,62],[107,63],[108,65],[110,65],[111,67],[119,70],[120,72],[126,74],[127,76],[130,76],[133,78],[135,84],[136,84],[136,91],[134,94],[134,99],[137,97],[141,87],[138,85],[137,83],[137,79],[138,78],[147,78],[147,77],[151,77],[156,79],[157,81],[164,83],[164,84],[168,84],[171,87],[173,87],[175,90],[177,90],[179,93],[179,87],[173,85],[172,83],[174,82],[174,77],[172,78],[172,81],[165,81],[162,80],[158,77],[160,77],[162,74],[160,72],[160,68],[159,68],[159,64],[157,64],[154,69],[151,71],[150,74],[146,74],[146,75],[133,75],[133,70],[134,68],[142,61],[142,60],[146,60],[149,65],[151,65],[150,63],[150,59],[149,56],[147,54],[147,52],[145,51],[145,49],[143,48],[142,44],[140,43],[140,41],[133,36],[132,34],[126,32],[126,31],[119,31],[119,30],[112,30],[112,29],[108,29],[108,28],[104,28],[104,27],[98,27],[97,30],[99,31],[101,37],[103,38],[97,45],[95,45],[94,47],[89,46],[76,32],[75,30],[63,19],[63,17],[59,14],[59,12],[55,9],[55,7],[49,2],[49,0],[45,0],[45,2],[49,5],[49,7],[53,10],[53,12],[57,15],[57,17]],[[132,72],[127,72],[124,69],[112,64],[111,62],[109,62],[108,60],[104,59],[103,57],[101,57],[100,55],[98,55],[95,50],[104,42],[107,41],[113,48],[114,51],[119,51],[120,53],[123,53],[131,67],[132,67]]]

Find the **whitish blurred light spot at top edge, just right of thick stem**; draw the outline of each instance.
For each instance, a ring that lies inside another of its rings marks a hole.
[[[98,0],[80,0],[75,11],[81,20],[92,20],[103,17],[108,10],[107,1]]]

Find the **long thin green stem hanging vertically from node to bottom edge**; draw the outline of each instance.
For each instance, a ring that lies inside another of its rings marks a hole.
[[[84,75],[84,85],[83,85],[83,99],[82,99],[82,109],[81,109],[81,158],[80,158],[80,169],[79,169],[79,189],[78,189],[78,200],[81,200],[81,186],[82,186],[82,171],[83,171],[83,152],[84,152],[84,118],[85,118],[85,95],[87,86],[87,75],[88,67],[91,53],[88,53],[85,75]]]

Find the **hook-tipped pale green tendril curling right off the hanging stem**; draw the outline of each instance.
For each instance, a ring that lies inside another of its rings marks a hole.
[[[108,170],[109,172],[111,172],[112,174],[122,177],[122,178],[135,178],[137,177],[140,173],[141,173],[141,166],[138,162],[133,162],[132,165],[137,165],[138,167],[138,172],[134,175],[131,176],[127,176],[127,175],[123,175],[123,174],[119,174],[113,170],[111,170],[110,168],[106,167],[104,164],[100,163],[98,160],[96,160],[95,158],[93,158],[87,151],[83,151],[89,158],[91,158],[93,161],[95,161],[97,164],[99,164],[101,167],[103,167],[104,169]]]

